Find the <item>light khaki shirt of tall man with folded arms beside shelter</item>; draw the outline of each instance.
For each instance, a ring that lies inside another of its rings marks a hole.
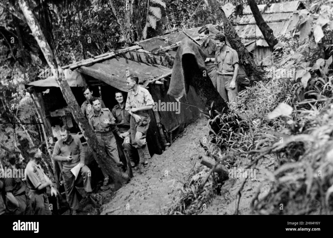
[[[154,105],[154,100],[149,91],[139,86],[137,93],[130,89],[127,94],[126,111],[130,111],[132,107],[139,108]]]

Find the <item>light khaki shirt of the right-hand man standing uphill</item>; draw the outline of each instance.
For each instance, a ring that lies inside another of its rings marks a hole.
[[[214,64],[218,74],[233,75],[235,64],[239,64],[238,54],[234,49],[226,45],[225,51],[216,51]]]

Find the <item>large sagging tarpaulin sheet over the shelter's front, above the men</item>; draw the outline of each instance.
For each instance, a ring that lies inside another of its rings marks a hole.
[[[91,66],[81,66],[78,71],[127,92],[126,70],[131,74],[136,74],[140,82],[157,78],[172,71],[165,66],[155,67],[132,60],[126,62],[125,58],[112,58]]]

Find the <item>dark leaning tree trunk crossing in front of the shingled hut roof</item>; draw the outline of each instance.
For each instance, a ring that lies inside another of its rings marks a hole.
[[[262,18],[262,15],[255,0],[247,0],[247,2],[251,8],[257,26],[259,27],[262,35],[264,36],[267,44],[273,49],[273,47],[278,43],[278,40],[274,37],[273,30]]]

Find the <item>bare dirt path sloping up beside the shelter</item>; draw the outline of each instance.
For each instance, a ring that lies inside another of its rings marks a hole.
[[[169,149],[152,157],[143,174],[134,170],[134,178],[102,206],[101,214],[164,214],[195,163],[191,156],[204,153],[199,139],[208,134],[206,123],[200,118],[187,126]]]

